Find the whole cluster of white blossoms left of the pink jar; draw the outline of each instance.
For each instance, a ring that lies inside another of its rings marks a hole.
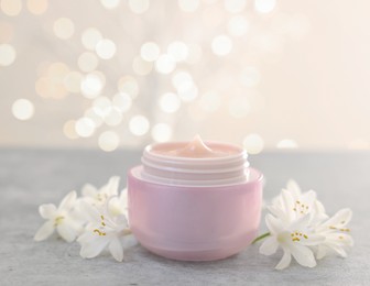
[[[58,208],[52,204],[40,206],[40,215],[47,221],[34,240],[45,240],[56,230],[68,242],[78,237],[83,257],[95,257],[108,248],[112,256],[121,262],[121,239],[131,234],[131,231],[127,220],[127,189],[119,194],[119,182],[120,177],[113,176],[100,189],[86,184],[81,189],[83,197],[77,198],[76,191],[70,191]],[[130,246],[135,240],[131,238],[124,240],[124,243]]]

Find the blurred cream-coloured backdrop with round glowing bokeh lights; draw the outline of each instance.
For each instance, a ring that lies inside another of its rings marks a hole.
[[[0,0],[0,146],[367,150],[370,2]]]

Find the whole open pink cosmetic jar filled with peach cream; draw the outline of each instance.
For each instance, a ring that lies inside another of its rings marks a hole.
[[[149,145],[128,174],[129,220],[139,242],[161,256],[213,261],[255,238],[263,176],[242,148],[225,143]]]

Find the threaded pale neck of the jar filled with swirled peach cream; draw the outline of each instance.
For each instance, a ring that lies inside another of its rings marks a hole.
[[[230,185],[248,180],[247,152],[238,146],[203,142],[168,142],[149,145],[143,156],[142,176],[170,185]]]

